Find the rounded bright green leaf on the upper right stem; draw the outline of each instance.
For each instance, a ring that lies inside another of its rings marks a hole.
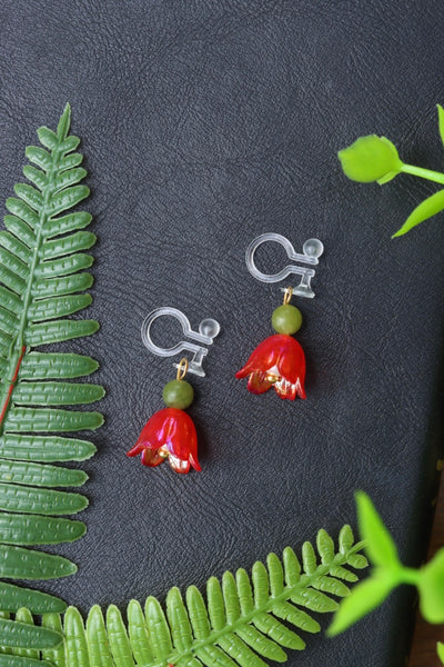
[[[369,135],[337,153],[342,169],[351,180],[362,183],[390,181],[402,170],[396,147],[385,137]]]

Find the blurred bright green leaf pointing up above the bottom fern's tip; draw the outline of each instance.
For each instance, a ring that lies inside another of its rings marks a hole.
[[[370,561],[387,569],[400,569],[396,546],[373,502],[364,491],[355,494],[357,522]]]

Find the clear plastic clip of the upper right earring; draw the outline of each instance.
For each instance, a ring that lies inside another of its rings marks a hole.
[[[262,273],[256,265],[254,263],[254,253],[258,248],[265,242],[274,241],[280,243],[286,251],[286,255],[291,261],[297,261],[300,263],[315,266],[319,263],[319,258],[324,251],[324,245],[319,239],[307,239],[302,246],[302,253],[296,252],[292,246],[292,243],[280,233],[275,233],[273,231],[262,233],[258,238],[255,238],[246,248],[245,252],[245,261],[246,267],[250,273],[261,280],[262,282],[280,282],[284,280],[290,275],[295,273],[301,276],[301,281],[299,285],[293,287],[293,293],[299,297],[307,297],[313,298],[314,291],[311,287],[311,280],[315,275],[315,270],[306,267],[299,267],[296,265],[287,265],[283,269],[281,269],[278,273]],[[284,291],[284,288],[282,288]]]

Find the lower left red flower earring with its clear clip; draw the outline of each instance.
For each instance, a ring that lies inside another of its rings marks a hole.
[[[161,316],[172,316],[178,319],[182,326],[186,338],[199,342],[180,341],[172,348],[160,348],[151,338],[151,325]],[[169,460],[170,466],[175,472],[185,474],[190,467],[194,470],[201,470],[198,460],[198,436],[194,422],[184,411],[193,402],[193,387],[184,378],[186,372],[192,372],[203,377],[205,375],[202,368],[203,357],[208,355],[208,348],[213,342],[213,338],[220,331],[219,322],[213,319],[205,319],[199,326],[199,332],[193,331],[189,319],[175,308],[158,308],[150,312],[142,325],[142,340],[149,350],[160,357],[170,357],[178,355],[183,350],[193,352],[191,361],[183,357],[175,367],[178,374],[175,380],[171,380],[163,388],[163,400],[167,408],[155,412],[145,424],[134,447],[127,452],[127,456],[138,456],[141,454],[141,461],[144,466],[153,468],[164,460]]]

